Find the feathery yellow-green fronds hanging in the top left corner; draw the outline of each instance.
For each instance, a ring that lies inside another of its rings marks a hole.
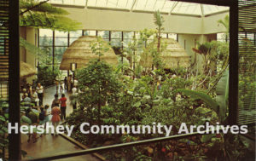
[[[66,17],[67,11],[49,3],[34,0],[20,1],[20,26],[50,28],[59,31],[75,31],[80,23]]]

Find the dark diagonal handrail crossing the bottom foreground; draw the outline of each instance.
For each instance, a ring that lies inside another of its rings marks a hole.
[[[207,130],[201,131],[201,133],[207,133]],[[159,138],[148,139],[148,140],[144,140],[144,141],[132,141],[132,142],[115,144],[115,145],[105,146],[105,147],[95,147],[95,148],[90,148],[90,149],[86,149],[86,150],[80,150],[77,152],[65,152],[65,153],[61,153],[61,154],[51,155],[48,157],[33,158],[33,159],[29,159],[29,160],[42,161],[42,160],[69,158],[69,157],[76,157],[76,156],[80,156],[80,155],[90,154],[90,153],[94,153],[94,152],[103,152],[103,151],[109,151],[109,150],[113,150],[113,149],[120,149],[123,147],[134,147],[134,146],[155,143],[155,142],[160,142],[160,141],[169,141],[172,139],[183,139],[183,138],[187,138],[189,136],[194,136],[194,135],[207,135],[207,134],[201,134],[201,133],[195,132],[195,133],[183,134],[183,135],[172,135],[172,136],[166,136],[166,137],[159,137]]]

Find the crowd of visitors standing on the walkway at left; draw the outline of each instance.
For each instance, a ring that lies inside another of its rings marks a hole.
[[[41,83],[38,83],[35,88],[32,85],[26,83],[26,86],[22,87],[22,92],[20,93],[20,101],[25,103],[25,106],[28,106],[26,109],[26,117],[30,118],[32,125],[44,125],[51,121],[51,123],[56,126],[60,124],[61,121],[66,119],[66,110],[67,110],[67,98],[65,96],[65,89],[67,92],[72,92],[72,95],[78,95],[78,80],[73,78],[71,75],[65,77],[62,83],[56,83],[56,94],[54,95],[54,100],[51,103],[51,109],[49,110],[49,105],[43,106],[44,98],[44,87]],[[61,88],[61,98],[59,98],[59,88]],[[73,103],[73,109],[77,108],[77,103]],[[32,111],[32,107],[36,107],[40,112],[39,115],[36,112]],[[52,115],[49,119],[49,115]],[[57,134],[52,134],[57,135]],[[43,135],[40,135],[43,136]],[[38,141],[37,133],[29,135],[28,142]]]

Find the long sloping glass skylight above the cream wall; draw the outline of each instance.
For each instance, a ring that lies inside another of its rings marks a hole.
[[[38,0],[43,1],[43,0]],[[135,2],[135,4],[134,4]],[[183,3],[170,0],[50,0],[49,3],[81,5],[94,8],[156,11],[171,14],[206,15],[226,11],[229,8],[199,3]],[[134,4],[134,6],[133,6]]]

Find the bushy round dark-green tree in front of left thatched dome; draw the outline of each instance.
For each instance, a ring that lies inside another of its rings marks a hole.
[[[78,71],[77,78],[79,79],[79,89],[83,91],[82,94],[79,94],[80,106],[87,108],[88,112],[91,112],[91,117],[94,117],[93,109],[97,107],[97,117],[100,121],[101,107],[106,102],[111,106],[117,98],[120,88],[112,67],[103,61],[94,60],[90,62],[89,66]]]

